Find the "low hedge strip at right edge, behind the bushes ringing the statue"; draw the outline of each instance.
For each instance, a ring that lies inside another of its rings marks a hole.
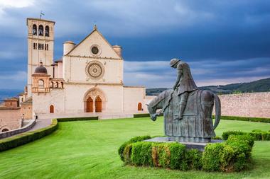
[[[269,141],[270,140],[270,132],[264,132],[261,130],[254,129],[252,132],[241,132],[241,131],[227,131],[223,132],[222,139],[227,140],[230,135],[244,135],[249,134],[254,137],[255,141]]]

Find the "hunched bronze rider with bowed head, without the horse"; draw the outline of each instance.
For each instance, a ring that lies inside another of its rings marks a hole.
[[[180,59],[171,59],[170,65],[178,71],[177,79],[175,85],[173,86],[173,90],[178,88],[177,94],[180,98],[180,109],[179,117],[177,118],[178,120],[181,120],[183,118],[185,106],[187,105],[188,94],[198,88],[193,80],[193,77],[190,73],[190,67],[187,63],[183,62]]]

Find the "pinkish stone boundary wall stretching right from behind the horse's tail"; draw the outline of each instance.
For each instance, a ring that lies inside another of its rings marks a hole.
[[[220,95],[221,115],[270,117],[270,92]]]

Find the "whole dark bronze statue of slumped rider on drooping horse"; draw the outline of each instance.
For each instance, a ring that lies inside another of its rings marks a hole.
[[[220,122],[220,98],[211,91],[197,88],[187,63],[171,59],[170,65],[178,71],[177,80],[173,89],[163,91],[148,104],[151,120],[155,121],[163,112],[165,134],[171,141],[210,142]],[[156,113],[158,109],[161,110]]]

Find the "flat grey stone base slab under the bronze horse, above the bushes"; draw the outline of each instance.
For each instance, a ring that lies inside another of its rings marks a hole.
[[[179,142],[184,144],[187,149],[198,149],[199,151],[205,151],[205,146],[212,143],[220,143],[222,140],[210,139],[210,142],[183,142],[179,141],[177,137],[155,137],[152,139],[144,140],[145,142]]]

